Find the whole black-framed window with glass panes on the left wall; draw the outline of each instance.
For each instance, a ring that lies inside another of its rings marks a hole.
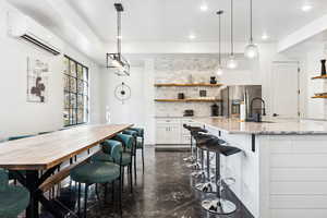
[[[64,126],[88,122],[88,68],[64,56]]]

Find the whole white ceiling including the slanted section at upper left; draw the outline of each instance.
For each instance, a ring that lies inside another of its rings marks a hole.
[[[99,64],[105,62],[104,53],[116,51],[112,43],[117,34],[117,14],[113,7],[117,0],[7,1]],[[249,1],[234,0],[234,39],[240,41],[242,50],[250,35]],[[327,14],[326,1],[253,0],[255,41],[262,40],[263,33],[270,36],[269,40],[280,40],[322,17]],[[207,12],[199,10],[203,2],[208,5]],[[313,5],[313,10],[306,13],[301,10],[305,2]],[[129,47],[129,44],[124,44],[123,51],[126,47],[133,51],[144,48],[145,41],[149,47],[153,43],[160,45],[160,48],[165,47],[164,41],[167,45],[172,41],[190,43],[190,34],[196,36],[194,41],[206,43],[208,47],[210,43],[218,40],[218,10],[226,11],[222,20],[222,40],[230,40],[230,0],[123,0],[123,43],[135,41],[136,45]],[[179,46],[179,49],[184,49],[191,45]],[[197,48],[194,44],[191,47],[195,50]]]

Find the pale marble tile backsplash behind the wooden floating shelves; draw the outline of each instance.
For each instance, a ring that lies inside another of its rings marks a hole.
[[[209,83],[215,76],[217,59],[214,58],[157,58],[155,83]],[[219,82],[219,80],[218,80]],[[220,98],[217,87],[157,87],[157,99],[177,99],[179,93],[185,98],[199,98],[199,90],[207,97]],[[213,102],[156,102],[156,116],[183,116],[184,110],[194,110],[194,116],[210,116]]]

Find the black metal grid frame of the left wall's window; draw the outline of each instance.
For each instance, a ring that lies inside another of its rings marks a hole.
[[[81,62],[76,61],[75,59],[64,55],[63,57],[64,59],[68,60],[68,63],[64,63],[64,72],[63,72],[63,80],[64,80],[64,84],[63,84],[63,95],[64,95],[64,99],[63,99],[63,126],[64,128],[70,128],[70,126],[76,126],[76,125],[82,125],[82,124],[86,124],[89,122],[89,69],[88,66],[82,64]],[[74,71],[73,71],[73,75],[72,75],[72,63],[74,64]],[[83,76],[80,77],[78,76],[78,66],[81,66],[81,70],[83,72]],[[72,85],[72,80],[74,80],[75,82],[75,88],[71,87]],[[66,81],[68,81],[68,85],[69,88],[66,89]],[[78,84],[82,83],[83,84],[83,90],[81,92],[81,87],[78,88]],[[75,89],[75,90],[73,90]],[[68,95],[68,99],[69,99],[69,104],[66,107],[66,95]],[[74,104],[71,104],[72,100],[72,96],[74,96]],[[81,98],[82,98],[82,108],[81,105],[78,105],[78,98],[80,98],[80,102],[81,102]],[[73,107],[75,106],[75,107]],[[82,112],[82,122],[81,117],[78,116],[78,111],[83,110]],[[68,111],[68,121],[69,124],[66,124],[66,118],[64,117]],[[80,119],[78,119],[80,117]]]

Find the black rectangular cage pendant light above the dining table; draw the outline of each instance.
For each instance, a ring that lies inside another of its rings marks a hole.
[[[117,75],[130,75],[130,63],[121,55],[121,13],[124,8],[121,3],[114,3],[117,11],[117,53],[107,53],[107,68],[116,69]]]

